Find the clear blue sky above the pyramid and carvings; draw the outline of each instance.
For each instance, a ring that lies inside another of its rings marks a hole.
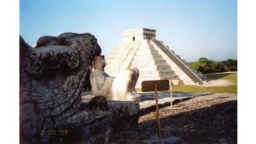
[[[21,0],[19,34],[29,45],[40,36],[92,33],[110,51],[125,29],[157,30],[157,39],[187,61],[237,59],[235,0]]]

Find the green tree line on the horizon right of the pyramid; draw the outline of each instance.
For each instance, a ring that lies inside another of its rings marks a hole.
[[[202,74],[237,71],[237,60],[232,59],[214,61],[201,57],[199,58],[199,61],[195,61],[190,64],[193,69],[200,71]]]

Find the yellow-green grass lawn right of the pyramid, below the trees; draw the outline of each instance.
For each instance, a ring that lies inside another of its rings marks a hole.
[[[209,93],[230,93],[237,94],[237,73],[231,74],[208,74],[206,77],[209,80],[226,80],[230,81],[232,85],[219,87],[200,87],[195,85],[185,85],[182,87],[175,87],[172,91],[175,92],[209,92]]]

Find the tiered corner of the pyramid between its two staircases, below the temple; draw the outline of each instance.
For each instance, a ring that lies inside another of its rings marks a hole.
[[[152,80],[178,80],[182,81],[163,57],[149,44],[148,40],[143,40],[139,46],[130,67],[137,67],[140,70],[140,77],[136,87],[141,87],[142,81]]]

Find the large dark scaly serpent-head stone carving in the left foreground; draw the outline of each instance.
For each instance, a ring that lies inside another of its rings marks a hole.
[[[81,91],[90,89],[89,64],[101,53],[94,36],[43,36],[36,48],[20,36],[19,51],[21,143],[71,142],[74,136],[88,142],[100,130],[109,132],[108,116],[97,120],[79,109]]]

